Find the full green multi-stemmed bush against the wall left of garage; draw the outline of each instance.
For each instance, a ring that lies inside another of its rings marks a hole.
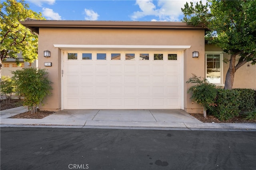
[[[40,103],[43,104],[44,97],[51,94],[52,82],[48,80],[48,72],[41,68],[22,68],[12,73],[20,96],[24,97],[23,106],[27,106],[30,113],[36,113],[36,108]]]

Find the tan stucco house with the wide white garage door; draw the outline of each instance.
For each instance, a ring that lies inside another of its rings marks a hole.
[[[202,26],[141,21],[21,23],[38,33],[38,66],[48,69],[53,82],[52,96],[42,110],[184,109],[198,113],[202,107],[190,100],[188,78],[193,73],[223,86],[228,69],[222,62],[228,55],[205,45]],[[193,52],[198,57],[193,58]],[[255,74],[256,66],[242,66],[233,87],[256,90]]]

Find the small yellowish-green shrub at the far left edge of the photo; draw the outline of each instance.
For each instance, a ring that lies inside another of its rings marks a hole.
[[[9,76],[2,76],[0,81],[1,86],[1,95],[5,96],[6,104],[10,104],[10,100],[12,99],[12,93],[15,92],[15,85],[12,78]]]

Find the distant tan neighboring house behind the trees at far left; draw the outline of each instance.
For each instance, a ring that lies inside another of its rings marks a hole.
[[[2,76],[10,76],[12,77],[12,71],[20,70],[22,68],[28,68],[28,67],[37,67],[37,60],[34,61],[34,63],[28,63],[24,62],[24,59],[22,59],[22,54],[17,54],[21,66],[18,66],[15,59],[8,58],[5,61],[2,61]]]

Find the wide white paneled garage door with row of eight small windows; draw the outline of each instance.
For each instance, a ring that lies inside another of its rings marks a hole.
[[[64,51],[62,109],[180,109],[182,52]]]

